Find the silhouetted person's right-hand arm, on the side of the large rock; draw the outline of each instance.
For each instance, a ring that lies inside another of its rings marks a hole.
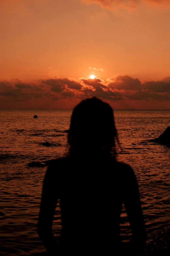
[[[146,229],[136,177],[128,165],[124,179],[124,205],[132,228],[131,247],[134,251],[140,251],[146,242]]]

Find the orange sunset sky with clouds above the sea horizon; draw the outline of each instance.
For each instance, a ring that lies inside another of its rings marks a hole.
[[[0,35],[0,109],[170,109],[169,0],[0,0]]]

